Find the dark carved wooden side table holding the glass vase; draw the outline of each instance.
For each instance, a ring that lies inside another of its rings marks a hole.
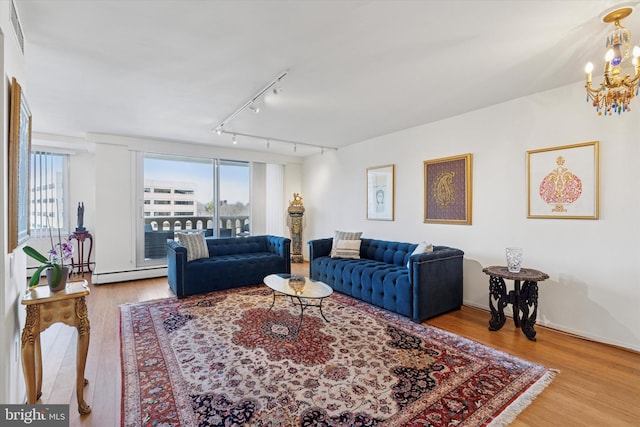
[[[533,326],[538,316],[538,281],[549,278],[546,273],[538,270],[523,268],[518,273],[510,272],[506,267],[491,266],[482,270],[489,278],[489,308],[491,320],[489,330],[497,331],[506,322],[504,308],[512,305],[513,323],[531,341],[536,340]],[[514,281],[513,290],[507,292],[504,279]],[[522,287],[520,282],[523,281]]]

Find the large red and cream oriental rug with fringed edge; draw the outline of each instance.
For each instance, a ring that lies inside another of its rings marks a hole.
[[[123,305],[123,426],[481,426],[554,372],[344,295],[249,287]]]

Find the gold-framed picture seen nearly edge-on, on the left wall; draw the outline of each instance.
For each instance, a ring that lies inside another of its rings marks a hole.
[[[14,77],[9,116],[9,252],[29,239],[30,154],[31,111]]]

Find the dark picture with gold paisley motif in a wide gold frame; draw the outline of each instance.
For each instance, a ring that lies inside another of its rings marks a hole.
[[[471,153],[424,161],[424,222],[471,224]]]

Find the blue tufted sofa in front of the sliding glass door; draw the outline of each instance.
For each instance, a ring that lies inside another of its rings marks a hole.
[[[167,240],[169,286],[178,297],[262,283],[273,273],[291,273],[291,239],[206,237],[209,258],[187,262],[187,248]]]

